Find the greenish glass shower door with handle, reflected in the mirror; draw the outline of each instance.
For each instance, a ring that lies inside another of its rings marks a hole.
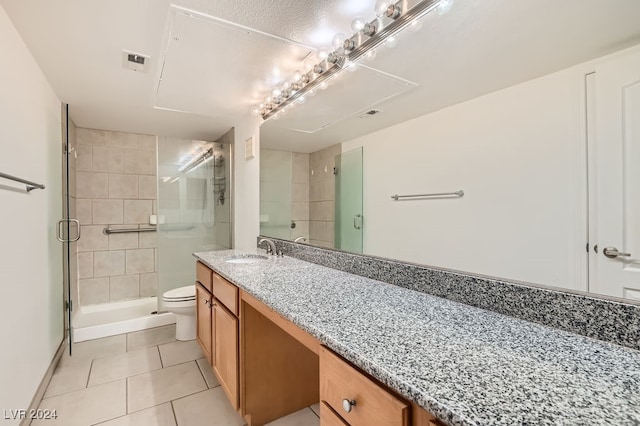
[[[336,156],[335,247],[362,253],[362,148]]]

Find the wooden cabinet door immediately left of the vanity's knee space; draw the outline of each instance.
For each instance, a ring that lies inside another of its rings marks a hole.
[[[213,306],[213,370],[238,410],[238,318],[216,299]]]

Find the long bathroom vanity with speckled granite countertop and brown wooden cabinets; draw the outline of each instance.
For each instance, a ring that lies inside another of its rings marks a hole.
[[[261,255],[195,254],[198,342],[250,425],[640,422],[638,351]]]

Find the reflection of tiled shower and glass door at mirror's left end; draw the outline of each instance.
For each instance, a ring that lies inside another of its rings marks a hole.
[[[362,149],[260,150],[260,234],[362,252]]]

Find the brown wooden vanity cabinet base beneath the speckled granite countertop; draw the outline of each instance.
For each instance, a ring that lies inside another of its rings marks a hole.
[[[322,426],[442,426],[204,264],[196,269],[198,343],[249,425],[320,400]]]

